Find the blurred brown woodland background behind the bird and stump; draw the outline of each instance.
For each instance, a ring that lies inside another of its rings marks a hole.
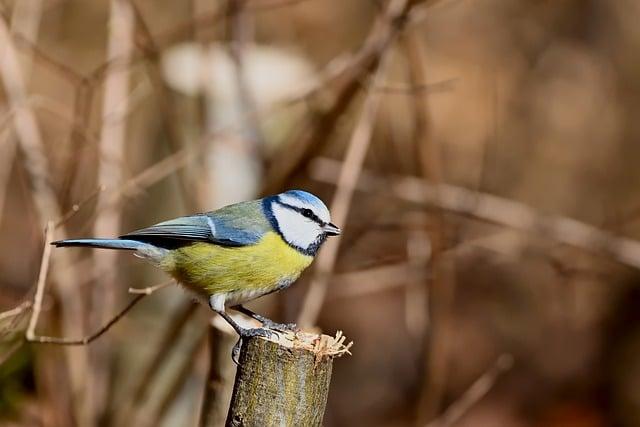
[[[354,341],[325,425],[640,425],[637,1],[0,13],[1,425],[197,425],[224,341],[178,287],[131,295],[166,277],[130,254],[43,254],[47,223],[112,236],[291,188],[344,234],[251,307]],[[27,343],[41,260],[38,335],[139,303],[89,345]]]

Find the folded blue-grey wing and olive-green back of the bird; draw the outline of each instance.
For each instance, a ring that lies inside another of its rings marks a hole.
[[[209,242],[223,246],[246,246],[256,243],[269,229],[260,201],[252,201],[161,222],[125,234],[121,238],[159,246],[163,242]]]

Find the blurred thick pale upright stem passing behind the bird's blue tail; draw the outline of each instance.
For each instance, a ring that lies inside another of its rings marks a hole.
[[[135,17],[131,3],[127,0],[111,0],[109,4],[107,61],[120,58],[129,62],[135,50]],[[127,121],[121,117],[126,116],[131,102],[130,73],[130,69],[113,70],[110,67],[104,82],[99,157],[96,167],[98,183],[105,187],[116,187],[124,180]],[[121,234],[122,204],[110,204],[107,197],[100,193],[97,198],[96,212],[92,235]],[[100,276],[102,286],[90,288],[89,298],[93,310],[89,316],[89,324],[101,324],[109,318],[116,307],[118,253],[117,251],[96,251],[93,255],[93,269],[95,274]],[[138,297],[132,300],[131,307],[135,305],[137,299]],[[97,336],[100,335],[101,333]],[[113,369],[112,352],[113,346],[108,340],[96,343],[90,350],[93,369],[88,373],[85,405],[91,416],[103,413],[108,403],[109,387],[112,383],[110,381]]]

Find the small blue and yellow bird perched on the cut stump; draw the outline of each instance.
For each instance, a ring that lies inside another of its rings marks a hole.
[[[52,244],[133,251],[168,273],[238,333],[232,352],[236,361],[243,339],[297,328],[273,322],[243,304],[291,286],[327,237],[340,233],[322,200],[303,190],[289,190],[160,222],[117,238]],[[241,326],[227,308],[254,318],[262,327]]]

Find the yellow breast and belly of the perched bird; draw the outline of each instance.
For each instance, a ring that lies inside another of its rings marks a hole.
[[[160,267],[204,296],[235,291],[261,294],[289,285],[311,261],[313,257],[293,249],[278,234],[268,232],[249,246],[194,243],[171,251]]]

